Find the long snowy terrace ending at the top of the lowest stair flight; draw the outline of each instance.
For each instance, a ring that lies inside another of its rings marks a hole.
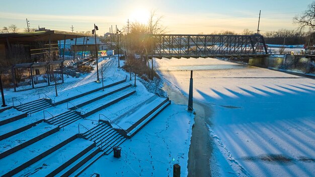
[[[0,176],[12,176],[76,138],[73,132],[59,131],[0,159]]]

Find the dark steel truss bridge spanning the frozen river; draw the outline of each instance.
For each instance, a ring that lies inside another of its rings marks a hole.
[[[261,35],[153,35],[152,57],[220,57],[266,55]]]

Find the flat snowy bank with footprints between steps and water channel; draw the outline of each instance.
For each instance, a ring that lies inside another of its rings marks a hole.
[[[82,176],[173,176],[173,165],[181,165],[187,176],[193,115],[186,106],[172,104],[121,145],[121,157],[105,155]]]

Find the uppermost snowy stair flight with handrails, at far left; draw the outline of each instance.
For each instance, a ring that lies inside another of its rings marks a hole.
[[[46,108],[52,107],[45,99],[39,99],[33,102],[29,102],[23,105],[16,106],[15,108],[23,112],[36,113]]]

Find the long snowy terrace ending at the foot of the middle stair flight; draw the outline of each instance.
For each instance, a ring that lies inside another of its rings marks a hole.
[[[49,125],[47,123],[39,123],[38,125],[27,129],[21,133],[13,135],[0,141],[0,159],[8,156],[40,139],[43,139],[59,130],[59,127]]]

